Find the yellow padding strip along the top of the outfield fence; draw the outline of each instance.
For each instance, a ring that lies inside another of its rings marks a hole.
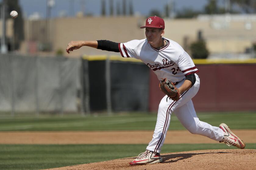
[[[107,55],[84,55],[83,59],[88,61],[97,61],[97,60],[107,60],[109,57],[109,60],[112,61],[123,61],[123,62],[137,62],[142,63],[142,61],[137,60],[135,58],[125,58],[122,56],[107,56]],[[216,60],[216,59],[193,59],[195,64],[250,64],[250,63],[256,63],[256,59],[246,59],[246,60],[234,60],[234,59],[222,59],[222,60]]]

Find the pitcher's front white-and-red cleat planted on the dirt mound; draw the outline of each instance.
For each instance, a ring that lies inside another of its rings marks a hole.
[[[130,165],[155,164],[162,161],[163,159],[159,153],[146,150],[130,162]]]

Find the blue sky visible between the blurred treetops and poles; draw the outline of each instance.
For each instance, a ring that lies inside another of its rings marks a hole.
[[[114,6],[119,1],[113,0]],[[128,3],[130,0],[126,0]],[[152,9],[157,9],[163,12],[164,6],[169,0],[132,0],[134,13],[138,12],[141,15],[148,15]],[[220,0],[222,1],[222,0]],[[47,0],[19,0],[23,13],[26,16],[38,12],[42,17],[46,16],[46,2]],[[72,2],[74,2],[72,4]],[[101,13],[101,0],[55,0],[55,6],[52,8],[52,17],[57,17],[59,12],[63,11],[67,16],[74,15],[74,13],[82,10],[82,2],[84,2],[85,13],[92,13],[93,15],[100,15]],[[183,8],[192,8],[201,10],[208,2],[208,0],[174,0],[176,10]],[[122,6],[121,6],[122,7]],[[108,14],[108,0],[106,0],[106,11]],[[114,8],[115,10],[115,8]]]

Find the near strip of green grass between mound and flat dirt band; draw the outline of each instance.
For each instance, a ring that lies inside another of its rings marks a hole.
[[[46,169],[136,157],[145,151],[146,146],[146,144],[0,144],[0,169]],[[219,143],[164,144],[161,153],[208,149],[236,148]],[[256,144],[247,144],[246,149],[256,149]]]

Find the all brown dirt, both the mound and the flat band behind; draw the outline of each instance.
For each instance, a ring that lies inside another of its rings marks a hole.
[[[256,130],[233,130],[246,143],[256,143]],[[0,144],[148,144],[153,131],[11,131],[0,132]],[[143,137],[142,137],[143,136]],[[168,131],[165,144],[216,143],[188,131]],[[74,165],[51,170],[243,170],[255,169],[256,150],[202,150],[162,154],[163,162],[130,166],[134,158]]]

